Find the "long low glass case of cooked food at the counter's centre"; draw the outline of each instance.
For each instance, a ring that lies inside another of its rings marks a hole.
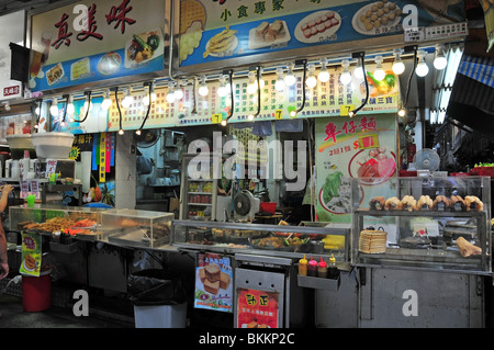
[[[349,261],[349,228],[173,221],[171,236],[179,248]]]

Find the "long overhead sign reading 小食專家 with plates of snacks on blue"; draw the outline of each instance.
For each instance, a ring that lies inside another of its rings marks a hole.
[[[462,1],[182,0],[180,66],[403,35],[407,29],[464,21]]]

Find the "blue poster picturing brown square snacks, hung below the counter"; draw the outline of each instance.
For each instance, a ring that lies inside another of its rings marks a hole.
[[[198,253],[194,307],[233,312],[232,260],[217,253]]]

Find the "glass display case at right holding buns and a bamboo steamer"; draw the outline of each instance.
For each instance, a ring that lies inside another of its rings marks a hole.
[[[371,184],[355,179],[353,194]],[[385,185],[353,203],[352,264],[491,273],[489,177],[390,178]]]

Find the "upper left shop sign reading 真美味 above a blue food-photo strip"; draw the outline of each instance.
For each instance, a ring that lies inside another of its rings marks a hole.
[[[82,1],[33,15],[32,29],[32,91],[164,69],[164,1]]]

